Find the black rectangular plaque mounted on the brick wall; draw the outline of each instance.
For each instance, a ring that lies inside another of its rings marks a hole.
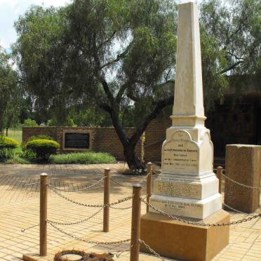
[[[65,149],[89,149],[90,133],[65,133]]]

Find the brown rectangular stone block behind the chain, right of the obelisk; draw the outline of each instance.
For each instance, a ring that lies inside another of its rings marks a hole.
[[[260,187],[261,146],[227,145],[226,173],[229,178],[251,187]],[[246,213],[260,206],[260,189],[242,187],[225,179],[225,203]]]

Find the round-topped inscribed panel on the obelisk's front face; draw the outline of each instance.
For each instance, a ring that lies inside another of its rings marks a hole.
[[[177,131],[172,140],[162,148],[162,170],[177,173],[197,173],[199,168],[199,147],[189,133]]]

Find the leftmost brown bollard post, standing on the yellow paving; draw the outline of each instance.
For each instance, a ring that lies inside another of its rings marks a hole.
[[[47,255],[47,182],[48,175],[40,176],[40,256]]]

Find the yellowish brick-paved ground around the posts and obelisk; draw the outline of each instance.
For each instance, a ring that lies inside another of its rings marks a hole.
[[[129,260],[130,243],[98,245],[86,243],[58,232],[48,224],[46,257],[39,254],[39,175],[48,173],[51,185],[61,189],[77,190],[91,185],[103,177],[104,169],[110,168],[112,174],[111,202],[131,196],[131,185],[145,176],[123,176],[126,164],[96,165],[1,165],[0,166],[0,260],[21,260],[22,255],[35,256],[37,260],[53,260],[59,250],[81,249],[86,252],[114,253],[114,260]],[[36,183],[36,184],[32,184]],[[25,186],[25,184],[31,184]],[[146,194],[146,182],[142,182],[142,196]],[[224,187],[224,186],[223,186]],[[95,187],[80,192],[61,192],[69,199],[85,204],[103,202],[103,181]],[[240,195],[239,195],[240,196]],[[55,225],[62,231],[89,241],[121,241],[131,236],[131,201],[125,201],[110,208],[109,232],[102,232],[102,210],[87,208],[69,202],[48,192],[48,220],[67,223],[90,220],[76,225]],[[146,211],[142,203],[142,214]],[[261,208],[256,210],[260,213]],[[231,221],[247,217],[243,213],[230,212]],[[28,227],[32,227],[26,229]],[[22,229],[26,229],[22,232]],[[230,226],[230,242],[214,260],[260,260],[261,257],[261,219],[253,219],[239,225]],[[119,256],[118,256],[119,255]],[[140,253],[140,260],[159,260],[154,255]],[[167,259],[166,259],[167,260]]]

